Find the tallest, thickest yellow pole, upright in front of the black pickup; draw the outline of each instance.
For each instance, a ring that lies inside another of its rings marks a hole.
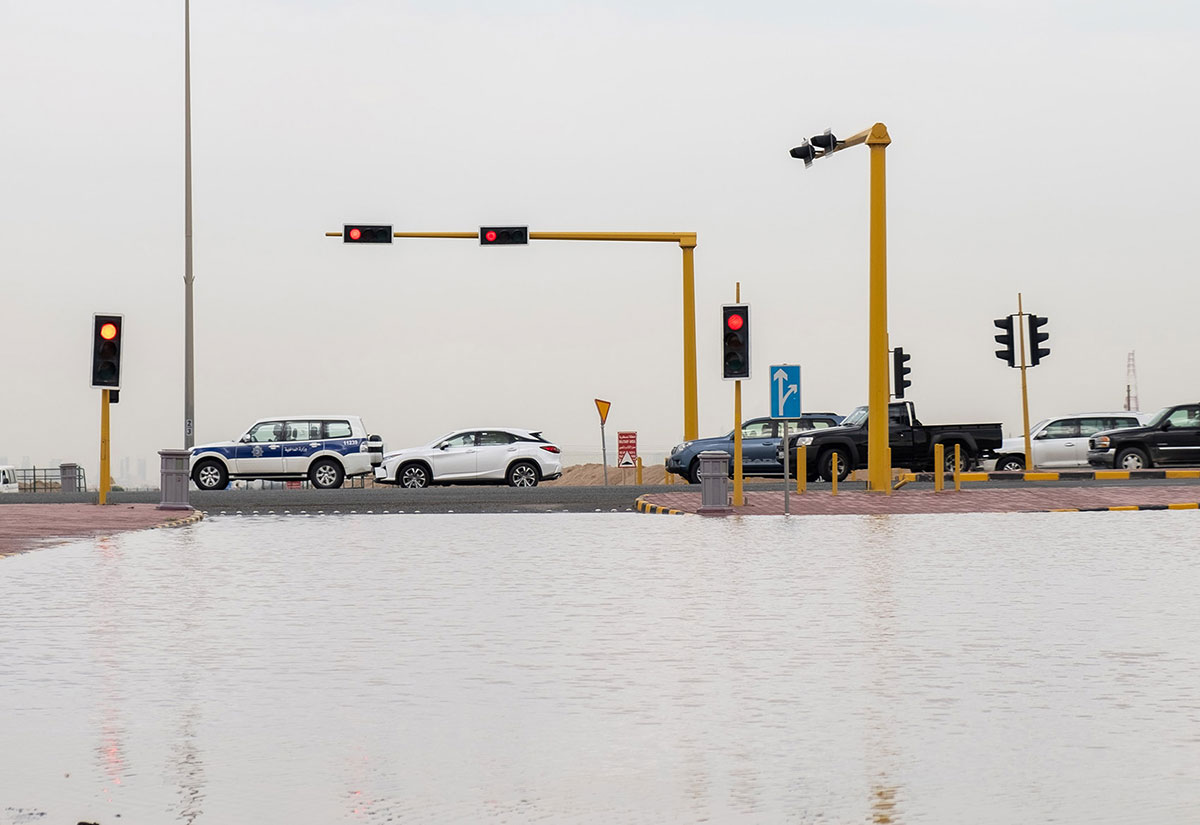
[[[892,143],[883,124],[871,127],[871,259],[870,336],[868,341],[868,489],[892,493],[892,451],[888,445],[888,235],[884,151]]]

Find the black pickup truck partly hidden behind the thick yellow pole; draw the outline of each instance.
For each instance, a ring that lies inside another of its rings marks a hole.
[[[888,404],[888,442],[892,466],[910,470],[934,469],[934,446],[946,445],[946,469],[954,469],[954,445],[959,445],[962,469],[974,466],[1004,440],[1000,423],[994,424],[923,424],[911,401]],[[839,427],[798,433],[787,440],[787,448],[796,456],[796,447],[804,446],[808,454],[808,478],[829,480],[833,456],[838,456],[838,480],[851,470],[866,468],[866,408],[857,407]],[[782,460],[782,447],[779,453]],[[793,470],[794,472],[794,470]]]

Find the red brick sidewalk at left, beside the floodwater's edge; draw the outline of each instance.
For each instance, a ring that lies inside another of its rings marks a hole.
[[[194,512],[156,510],[152,504],[6,504],[0,506],[0,556],[83,536],[156,528]]]

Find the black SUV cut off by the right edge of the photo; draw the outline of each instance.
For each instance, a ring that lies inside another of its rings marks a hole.
[[[1200,403],[1163,408],[1145,427],[1096,433],[1087,442],[1087,463],[1118,470],[1200,466]]]

